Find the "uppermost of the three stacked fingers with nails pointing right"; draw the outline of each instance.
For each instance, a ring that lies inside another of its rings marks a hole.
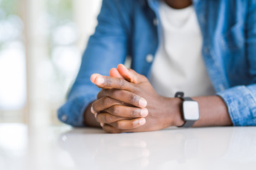
[[[138,96],[137,94],[133,94],[132,92],[129,92],[129,91],[109,89],[109,90],[102,90],[100,91],[99,94],[97,94],[97,98],[103,98],[105,96],[114,98],[117,101],[128,103],[132,106],[137,106],[139,108],[145,108],[147,105],[147,102],[144,98]]]

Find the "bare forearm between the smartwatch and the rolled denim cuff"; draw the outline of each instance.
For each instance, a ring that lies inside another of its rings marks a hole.
[[[181,108],[181,99],[175,98],[175,100],[179,100],[178,108]],[[228,126],[233,125],[230,115],[228,114],[228,108],[225,105],[225,102],[219,96],[203,96],[203,97],[195,97],[194,101],[198,102],[199,105],[199,120],[193,125],[193,127],[206,127],[206,126]],[[181,123],[181,109],[177,110],[180,113],[177,122],[179,125]]]

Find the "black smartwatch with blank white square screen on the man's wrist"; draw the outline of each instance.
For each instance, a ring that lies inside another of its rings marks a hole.
[[[196,120],[199,119],[199,106],[197,101],[193,101],[190,97],[184,97],[184,93],[178,91],[175,94],[175,97],[181,98],[182,103],[182,118],[185,123],[179,127],[189,128],[191,127]]]

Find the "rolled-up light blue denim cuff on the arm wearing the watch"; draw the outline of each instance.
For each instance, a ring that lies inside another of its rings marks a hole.
[[[235,86],[218,94],[228,106],[234,126],[256,125],[256,84]]]

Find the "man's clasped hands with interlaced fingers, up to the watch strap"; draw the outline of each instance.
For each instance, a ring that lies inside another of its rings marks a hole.
[[[91,112],[106,132],[144,132],[181,125],[177,98],[166,98],[142,74],[119,64],[110,77],[92,74],[91,81],[102,90]]]

